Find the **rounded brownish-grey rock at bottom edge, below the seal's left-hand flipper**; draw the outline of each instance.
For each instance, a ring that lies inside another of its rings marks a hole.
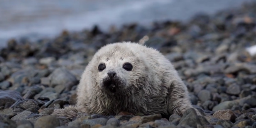
[[[60,120],[52,115],[39,117],[35,122],[35,128],[55,128],[60,126]]]

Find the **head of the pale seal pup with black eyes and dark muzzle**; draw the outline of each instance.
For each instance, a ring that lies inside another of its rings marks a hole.
[[[136,46],[136,45],[135,45]],[[127,43],[103,46],[93,57],[91,69],[93,86],[109,94],[138,88],[147,74],[146,64],[139,51]]]

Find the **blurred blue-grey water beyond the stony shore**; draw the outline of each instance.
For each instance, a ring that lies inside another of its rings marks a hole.
[[[155,20],[188,20],[197,12],[212,14],[252,0],[1,0],[0,47],[10,38],[54,37],[79,31]]]

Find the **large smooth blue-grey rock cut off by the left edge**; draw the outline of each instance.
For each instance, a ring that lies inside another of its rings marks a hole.
[[[17,100],[23,100],[20,93],[14,90],[0,91],[0,106],[5,105],[7,102],[15,103]]]

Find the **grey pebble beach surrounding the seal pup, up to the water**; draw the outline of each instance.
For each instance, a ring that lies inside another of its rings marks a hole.
[[[114,42],[158,49],[186,84],[193,106],[182,116],[120,112],[50,115],[76,104],[81,74],[97,50]],[[0,51],[0,128],[256,128],[256,2],[186,23],[124,24],[63,31],[31,42],[10,39]]]

